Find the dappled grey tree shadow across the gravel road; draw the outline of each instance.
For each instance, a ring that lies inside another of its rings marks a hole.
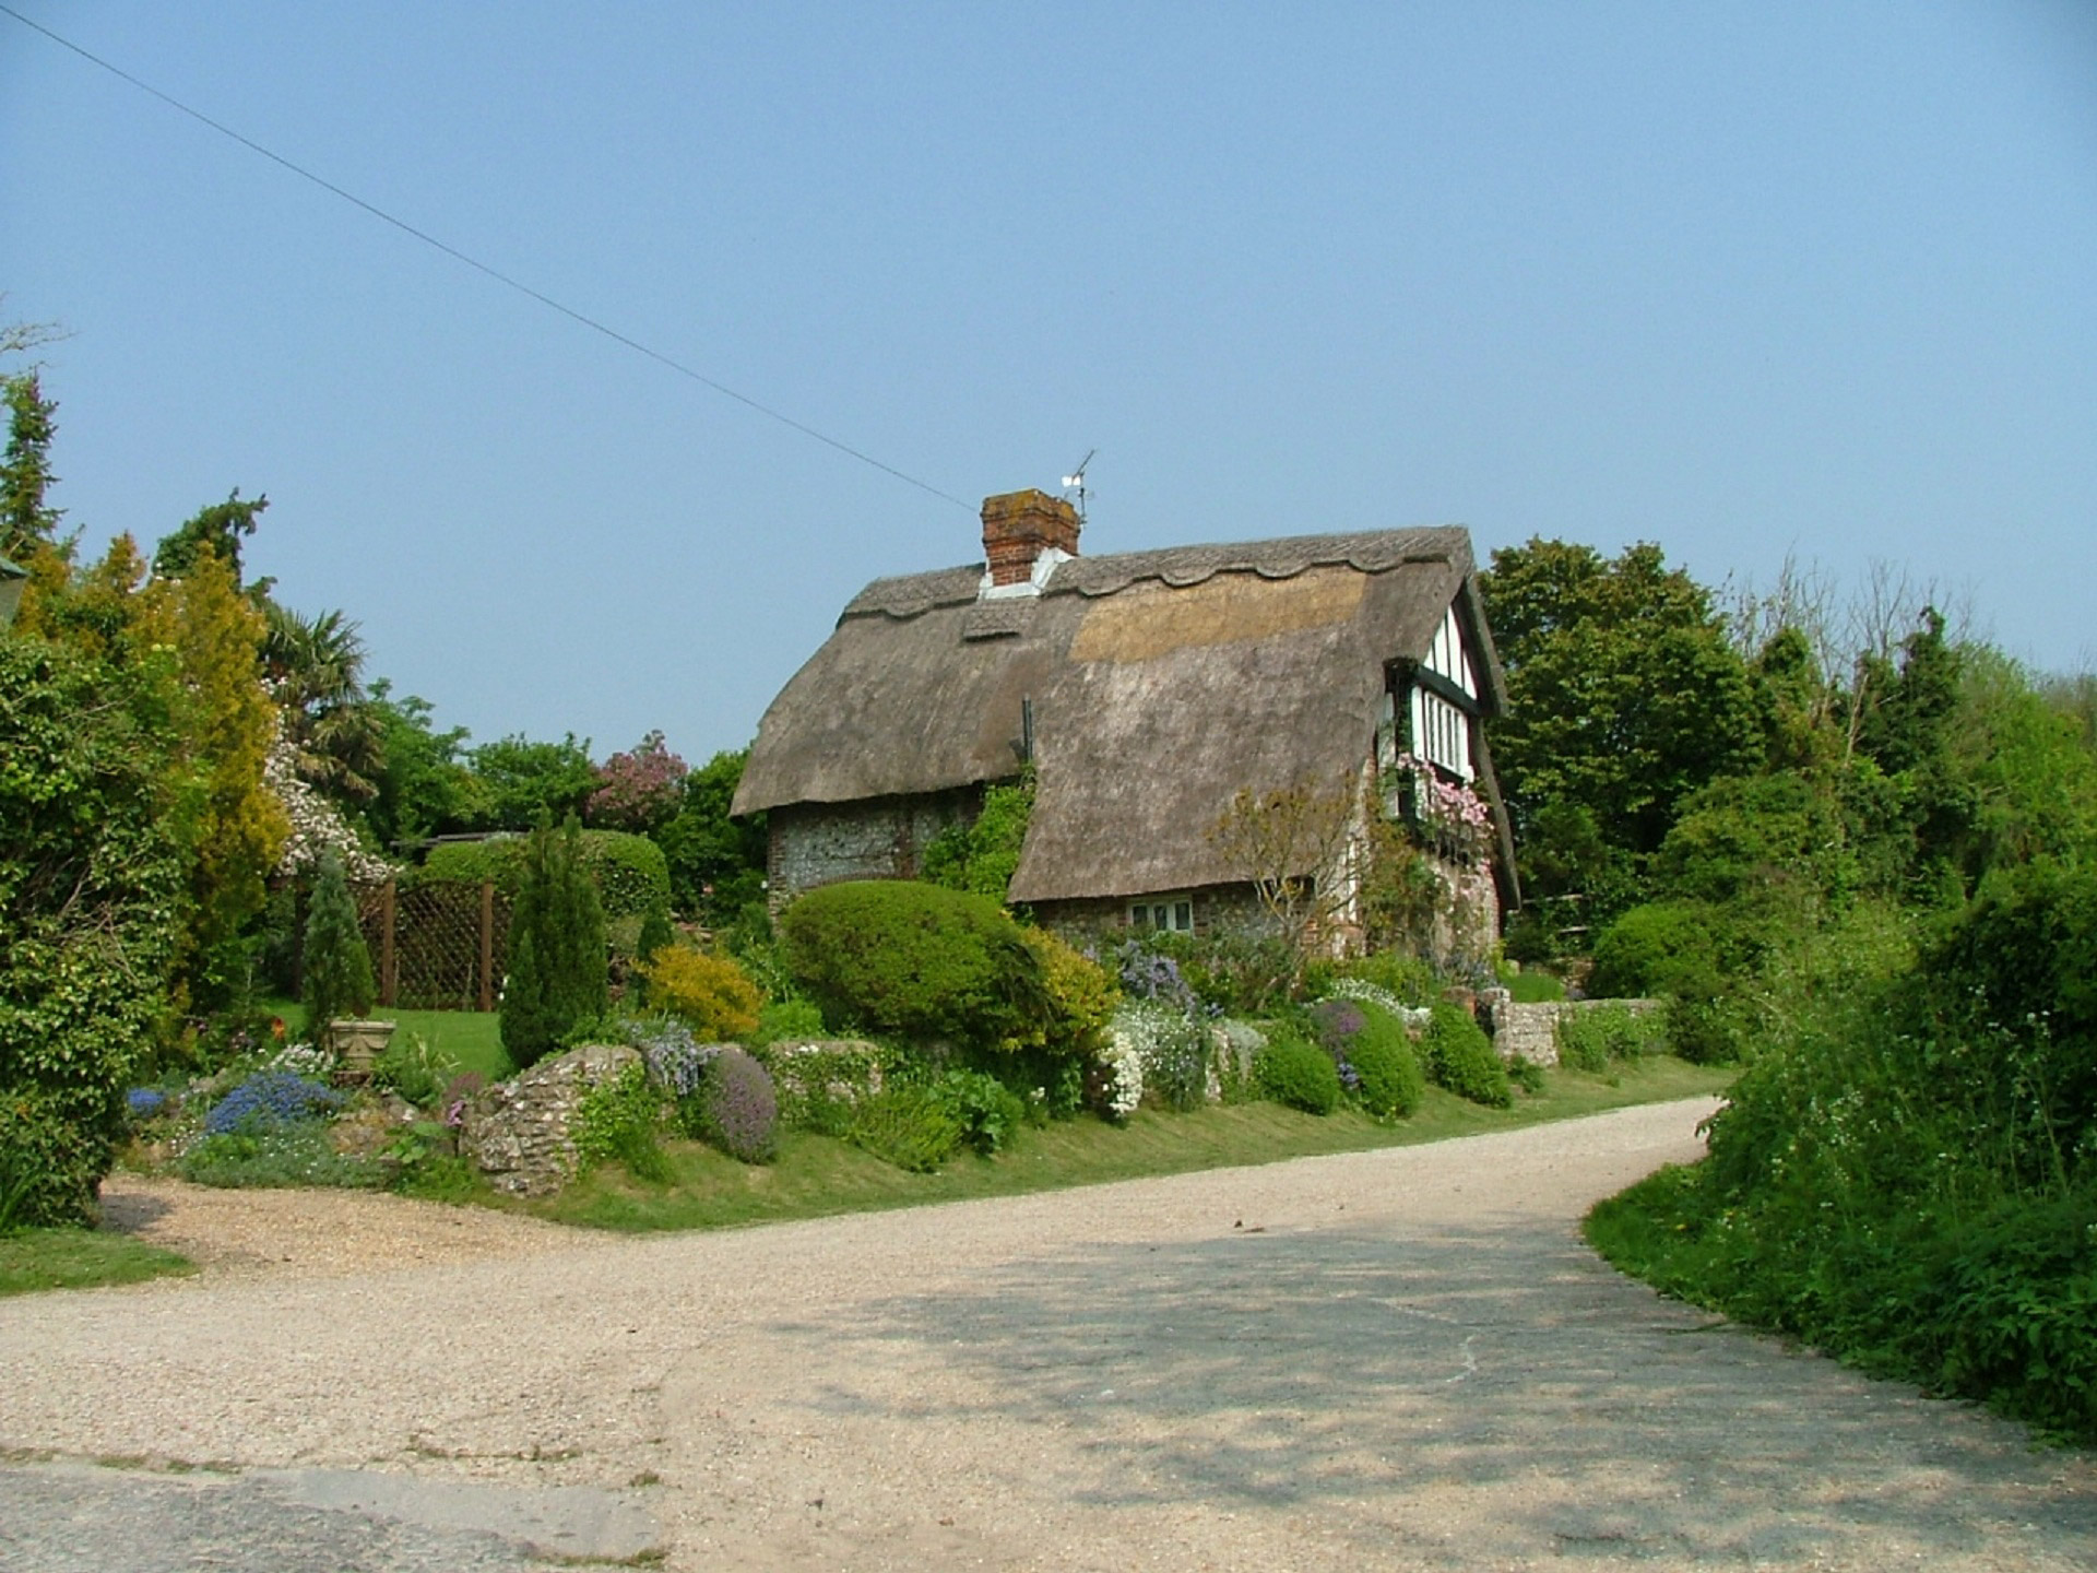
[[[1483,1495],[1508,1550],[2097,1554],[2089,1460],[1661,1300],[1560,1223],[1072,1250],[782,1332],[960,1363],[967,1407],[1067,1435],[1101,1506]]]

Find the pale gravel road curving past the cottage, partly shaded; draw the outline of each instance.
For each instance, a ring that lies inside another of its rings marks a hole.
[[[208,1267],[0,1300],[0,1565],[2097,1565],[2087,1458],[1579,1244],[1709,1107],[642,1240],[130,1181]]]

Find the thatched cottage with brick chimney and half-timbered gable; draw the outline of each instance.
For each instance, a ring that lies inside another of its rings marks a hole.
[[[1241,791],[1359,780],[1378,801],[1418,770],[1489,805],[1472,866],[1447,872],[1497,921],[1512,856],[1478,724],[1501,675],[1466,531],[1086,558],[1078,526],[1040,491],[990,497],[986,562],[845,606],[765,711],[734,801],[770,816],[774,900],[914,875],[1032,761],[1011,900],[1059,927],[1204,931],[1252,910],[1210,835]]]

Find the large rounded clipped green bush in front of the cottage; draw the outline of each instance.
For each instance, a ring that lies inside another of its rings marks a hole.
[[[826,885],[786,908],[780,933],[828,1021],[1011,1049],[1038,1042],[1055,1015],[1040,958],[986,896],[900,879]]]

